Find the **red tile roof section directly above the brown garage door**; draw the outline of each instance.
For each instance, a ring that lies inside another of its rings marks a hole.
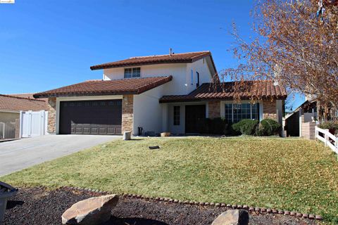
[[[101,96],[120,94],[141,94],[144,91],[154,89],[173,79],[168,77],[145,77],[133,79],[92,80],[63,86],[58,89],[40,92],[35,98],[47,98],[52,96]]]

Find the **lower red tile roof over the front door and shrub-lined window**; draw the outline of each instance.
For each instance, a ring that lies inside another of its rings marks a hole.
[[[198,89],[188,95],[163,96],[160,103],[184,102],[184,101],[208,101],[208,100],[232,100],[234,99],[235,82],[224,82],[217,86],[211,83],[204,83]],[[271,81],[251,82],[246,81],[245,91],[239,96],[241,99],[257,98],[287,98],[287,91],[282,86],[275,86]]]

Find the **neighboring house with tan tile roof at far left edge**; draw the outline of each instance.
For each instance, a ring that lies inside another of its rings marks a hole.
[[[20,110],[46,110],[46,101],[0,94],[0,122],[15,122]]]

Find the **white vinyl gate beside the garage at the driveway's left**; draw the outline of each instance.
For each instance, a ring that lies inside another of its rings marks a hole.
[[[47,111],[20,111],[20,137],[47,134]]]

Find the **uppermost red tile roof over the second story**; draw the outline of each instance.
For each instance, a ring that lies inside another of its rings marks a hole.
[[[211,57],[210,51],[199,51],[189,53],[173,53],[170,55],[159,55],[159,56],[139,56],[133,58],[127,58],[125,60],[119,60],[112,63],[104,63],[100,65],[93,65],[90,67],[91,70],[101,70],[107,68],[121,68],[127,66],[137,65],[150,65],[150,64],[162,64],[162,63],[193,63],[196,60],[204,58],[206,56]],[[211,57],[213,63],[213,59]],[[213,63],[215,68],[215,64]],[[216,68],[215,68],[215,71]]]

